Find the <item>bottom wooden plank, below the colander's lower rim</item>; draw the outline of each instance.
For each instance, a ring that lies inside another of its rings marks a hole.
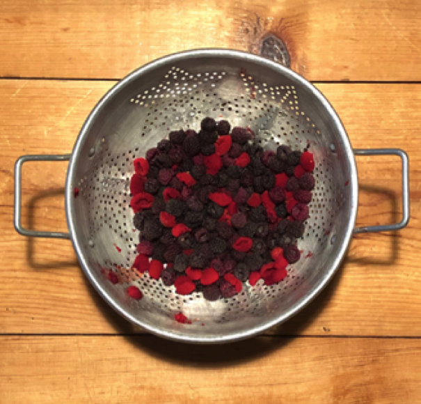
[[[421,341],[3,336],[0,402],[421,403]],[[235,348],[235,349],[232,349]]]

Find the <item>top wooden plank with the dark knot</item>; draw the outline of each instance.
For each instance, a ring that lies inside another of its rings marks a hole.
[[[421,79],[419,1],[17,0],[0,16],[0,77],[120,79],[185,49],[253,52],[271,32],[311,80]]]

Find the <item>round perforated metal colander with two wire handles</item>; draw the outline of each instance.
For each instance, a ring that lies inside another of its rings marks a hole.
[[[132,269],[138,231],[129,207],[133,160],[170,130],[198,130],[206,116],[248,126],[266,150],[278,144],[315,155],[316,187],[301,259],[273,286],[259,281],[239,295],[207,302],[201,293],[181,296],[148,274]],[[402,157],[404,218],[399,224],[354,229],[358,179],[354,153]],[[66,212],[70,235],[27,231],[20,226],[20,168],[27,160],[70,159]],[[88,117],[72,155],[24,156],[17,162],[15,226],[29,236],[71,238],[93,286],[116,311],[154,334],[178,341],[217,343],[253,336],[282,323],[310,302],[331,279],[351,235],[402,228],[408,222],[407,158],[402,150],[352,150],[335,111],[308,81],[287,68],[243,52],[209,49],[159,59],[120,81]],[[74,198],[74,187],[79,197]],[[103,269],[119,274],[111,284]],[[125,293],[138,286],[143,299]],[[192,323],[176,323],[184,313]]]

